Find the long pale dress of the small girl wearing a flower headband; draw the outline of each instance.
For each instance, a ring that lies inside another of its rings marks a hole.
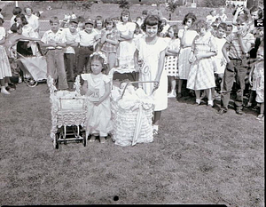
[[[99,97],[102,97],[106,92],[106,84],[110,83],[110,78],[102,73],[98,75],[82,74],[82,79],[88,82],[88,92],[98,91]],[[86,94],[87,95],[87,94]],[[90,98],[89,98],[90,99]],[[88,101],[86,115],[86,133],[100,133],[106,136],[108,132],[113,130],[111,121],[111,103],[110,97],[107,97],[101,104],[95,106]]]

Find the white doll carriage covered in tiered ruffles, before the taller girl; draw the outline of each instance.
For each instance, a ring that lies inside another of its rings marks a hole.
[[[111,91],[113,131],[111,134],[114,143],[124,147],[153,142],[153,96],[147,96],[139,86],[154,82],[117,81],[113,75],[118,73],[124,74],[117,68],[113,68],[109,73],[113,80]],[[121,83],[124,83],[122,89]],[[127,94],[129,88],[132,94],[129,92]]]

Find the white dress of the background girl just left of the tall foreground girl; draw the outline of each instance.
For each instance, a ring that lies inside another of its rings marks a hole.
[[[133,34],[136,28],[136,24],[134,22],[127,22],[124,24],[123,22],[119,22],[116,25],[116,28],[122,35],[129,35],[129,33]],[[128,65],[130,67],[134,67],[134,52],[135,52],[135,44],[132,39],[121,41],[117,50],[117,59],[119,60],[119,67]]]

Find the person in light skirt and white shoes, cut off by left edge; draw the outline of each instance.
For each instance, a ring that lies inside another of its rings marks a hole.
[[[1,93],[8,95],[10,92],[6,91],[6,87],[8,87],[8,77],[12,76],[12,70],[4,49],[5,29],[3,27],[3,23],[4,20],[0,18],[0,84]]]

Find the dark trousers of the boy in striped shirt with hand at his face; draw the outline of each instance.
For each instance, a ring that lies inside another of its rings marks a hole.
[[[233,68],[225,68],[223,76],[223,92],[221,95],[221,107],[228,109],[231,88],[236,81],[237,98],[234,100],[236,109],[243,108],[243,92],[245,90],[246,64],[242,64],[241,60],[231,60]]]

